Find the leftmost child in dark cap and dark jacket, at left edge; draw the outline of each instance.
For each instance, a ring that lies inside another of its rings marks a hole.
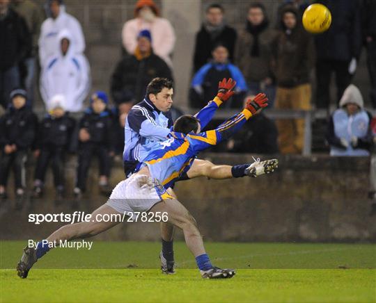
[[[0,117],[0,197],[6,199],[6,183],[10,167],[15,172],[16,207],[22,207],[26,188],[25,162],[36,135],[38,119],[26,106],[26,91],[10,92],[11,104],[5,115]]]

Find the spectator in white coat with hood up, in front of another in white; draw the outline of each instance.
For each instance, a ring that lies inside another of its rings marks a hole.
[[[75,40],[67,29],[58,34],[56,55],[49,57],[40,75],[40,94],[49,108],[54,95],[64,95],[64,108],[70,112],[82,109],[90,90],[90,67],[83,54],[75,52]]]

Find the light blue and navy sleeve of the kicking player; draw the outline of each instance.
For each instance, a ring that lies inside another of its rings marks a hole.
[[[146,110],[133,109],[127,120],[130,128],[140,136],[154,140],[164,140],[169,136],[170,129],[157,125]]]

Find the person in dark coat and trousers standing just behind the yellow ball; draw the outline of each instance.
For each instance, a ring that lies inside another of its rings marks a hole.
[[[359,1],[320,0],[331,11],[328,31],[316,35],[316,106],[328,108],[331,73],[336,74],[337,102],[350,84],[361,51],[361,19]]]

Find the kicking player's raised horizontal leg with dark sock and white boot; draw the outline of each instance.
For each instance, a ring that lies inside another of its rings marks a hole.
[[[254,159],[254,158],[253,158]],[[238,177],[258,177],[261,174],[269,174],[278,167],[278,160],[254,159],[252,164],[241,165],[215,165],[207,160],[196,159],[187,172],[189,179],[207,177],[210,179],[230,179]]]

